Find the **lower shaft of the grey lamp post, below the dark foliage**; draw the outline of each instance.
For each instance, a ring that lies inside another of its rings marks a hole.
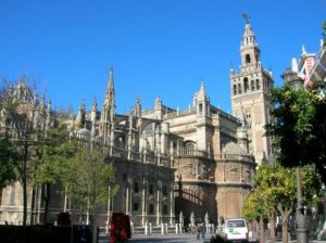
[[[302,205],[302,189],[301,189],[301,178],[300,178],[300,167],[296,168],[296,180],[297,180],[297,212],[296,212],[296,222],[297,222],[297,242],[308,243],[308,230],[305,225],[304,208]]]

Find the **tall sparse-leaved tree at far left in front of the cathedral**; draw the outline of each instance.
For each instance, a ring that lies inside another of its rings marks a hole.
[[[7,158],[15,171],[15,179],[23,188],[23,226],[27,221],[27,184],[34,174],[33,156],[39,143],[38,128],[33,120],[33,90],[25,85],[24,78],[18,82],[18,89],[7,82],[1,90],[1,135],[9,142]]]

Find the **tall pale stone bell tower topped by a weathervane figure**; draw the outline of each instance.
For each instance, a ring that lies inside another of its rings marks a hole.
[[[230,69],[230,97],[233,115],[242,120],[249,141],[249,153],[260,165],[262,161],[273,162],[272,141],[265,137],[264,126],[271,122],[269,90],[274,85],[272,72],[263,68],[261,50],[255,36],[246,20],[240,46],[240,71]]]

